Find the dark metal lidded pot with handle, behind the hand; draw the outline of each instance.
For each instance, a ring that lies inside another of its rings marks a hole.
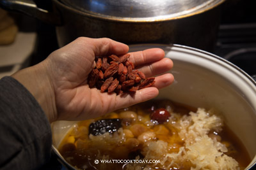
[[[56,25],[59,46],[79,36],[108,37],[127,44],[177,43],[211,51],[225,0],[1,0],[18,10]],[[47,10],[45,10],[47,8]]]

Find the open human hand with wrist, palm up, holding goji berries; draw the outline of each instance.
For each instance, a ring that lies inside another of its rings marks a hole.
[[[29,83],[28,78],[22,76],[22,71],[13,77],[35,96],[50,122],[100,117],[110,111],[152,99],[157,96],[158,89],[173,81],[172,74],[162,74],[156,76],[154,87],[122,96],[88,87],[87,78],[95,67],[95,56],[122,55],[128,50],[127,45],[107,38],[77,38],[52,52],[40,64],[25,70],[27,74],[33,73],[31,77],[35,82]],[[163,50],[156,48],[133,52],[129,60],[147,77],[164,73],[173,66],[172,60],[164,58]],[[36,86],[38,83],[41,84]]]

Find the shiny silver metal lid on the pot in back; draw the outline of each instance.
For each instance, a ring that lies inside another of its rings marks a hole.
[[[202,13],[225,0],[60,0],[90,15],[117,20],[157,21]]]

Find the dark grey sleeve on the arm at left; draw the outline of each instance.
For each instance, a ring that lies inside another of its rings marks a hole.
[[[51,155],[51,126],[29,91],[0,80],[0,169],[38,169]]]

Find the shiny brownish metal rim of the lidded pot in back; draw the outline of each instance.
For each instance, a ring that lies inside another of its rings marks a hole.
[[[64,3],[61,3],[59,0],[52,0],[52,1],[54,1],[54,3],[56,3],[56,4],[58,4],[58,6],[61,6],[61,8],[65,8],[67,10],[73,11],[74,13],[78,13],[79,15],[84,15],[86,17],[97,18],[100,20],[107,20],[107,21],[112,21],[112,22],[136,22],[136,23],[168,22],[170,20],[177,20],[177,19],[181,19],[181,18],[192,17],[194,15],[198,15],[200,13],[204,13],[206,11],[212,10],[212,9],[216,8],[217,6],[220,6],[220,4],[225,2],[225,0],[220,0],[218,3],[215,3],[211,6],[207,6],[206,8],[203,8],[202,10],[198,10],[193,13],[188,13],[185,15],[180,15],[177,17],[129,18],[129,17],[111,17],[108,15],[99,15],[99,13],[93,13],[91,11],[90,11],[90,13],[86,13],[85,11],[77,10],[76,8],[72,8]]]

